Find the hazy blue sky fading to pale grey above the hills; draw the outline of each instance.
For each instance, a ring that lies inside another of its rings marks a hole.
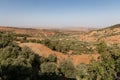
[[[0,25],[103,27],[120,23],[120,0],[0,0]]]

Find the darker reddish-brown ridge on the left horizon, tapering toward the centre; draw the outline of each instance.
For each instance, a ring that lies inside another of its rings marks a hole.
[[[54,30],[47,30],[47,29],[17,28],[17,27],[5,27],[5,26],[0,26],[0,30],[13,32],[16,34],[26,34],[29,36],[37,36],[37,37],[53,35],[55,33]]]

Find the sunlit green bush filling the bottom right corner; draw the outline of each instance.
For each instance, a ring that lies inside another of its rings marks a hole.
[[[101,49],[101,48],[100,48]],[[120,79],[120,48],[105,47],[101,49],[100,60],[89,65],[90,80],[119,80]]]

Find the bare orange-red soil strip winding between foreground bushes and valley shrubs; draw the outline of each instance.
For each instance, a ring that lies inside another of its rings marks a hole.
[[[49,54],[54,54],[57,56],[58,63],[61,60],[70,59],[75,66],[80,63],[88,64],[92,58],[97,60],[97,58],[99,56],[99,54],[66,55],[64,53],[52,51],[51,49],[47,48],[46,46],[44,46],[42,44],[37,44],[37,43],[20,43],[19,46],[29,47],[33,52],[35,52],[36,54],[43,56],[43,57],[47,57]]]

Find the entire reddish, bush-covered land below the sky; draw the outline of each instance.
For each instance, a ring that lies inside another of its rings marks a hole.
[[[118,26],[89,32],[0,29],[0,80],[119,80]]]

